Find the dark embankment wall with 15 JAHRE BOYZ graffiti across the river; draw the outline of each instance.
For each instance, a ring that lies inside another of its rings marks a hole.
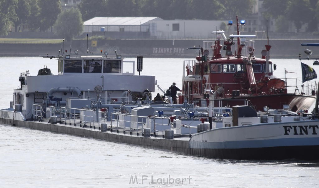
[[[205,40],[208,41],[208,40]],[[210,40],[212,41],[212,40]],[[69,54],[74,54],[74,50],[79,50],[79,55],[86,53],[87,47],[90,52],[94,54],[101,54],[100,50],[108,51],[108,56],[114,56],[115,50],[117,55],[122,57],[178,57],[178,58],[192,58],[199,54],[199,50],[189,50],[196,46],[203,46],[204,40],[97,40],[96,47],[91,46],[91,40],[73,40],[72,42],[63,42],[60,44],[0,44],[0,56],[39,56],[39,55],[58,55],[58,51],[62,49],[67,50]],[[270,51],[271,58],[299,58],[299,54],[302,57],[306,57],[304,50],[306,48],[312,50],[313,56],[319,55],[318,47],[306,47],[301,46],[301,43],[319,43],[319,40],[270,40],[269,44],[272,46]],[[255,40],[255,56],[261,57],[261,50],[265,49],[266,40]],[[224,50],[221,50],[222,55],[225,54]],[[211,56],[211,52],[210,55]]]

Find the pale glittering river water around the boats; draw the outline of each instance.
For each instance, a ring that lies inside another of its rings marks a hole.
[[[181,88],[183,60],[144,58],[141,75],[155,75],[164,89],[172,82]],[[0,109],[9,107],[20,72],[36,75],[44,65],[57,72],[56,61],[42,57],[0,57],[0,63]],[[285,67],[297,73],[286,76],[297,78],[301,90],[299,60],[273,63],[278,77]],[[0,143],[1,187],[319,187],[319,161],[198,158],[6,125],[0,125]]]

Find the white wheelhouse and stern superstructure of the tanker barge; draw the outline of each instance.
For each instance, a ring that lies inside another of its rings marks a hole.
[[[67,106],[73,97],[105,104],[137,103],[142,99],[150,101],[151,92],[155,91],[155,76],[134,75],[135,62],[124,61],[119,55],[115,58],[59,55],[57,62],[58,75],[53,75],[47,66],[36,76],[31,76],[29,71],[20,74],[20,86],[14,90],[12,106],[20,106],[26,118],[32,117],[33,104],[43,109]]]

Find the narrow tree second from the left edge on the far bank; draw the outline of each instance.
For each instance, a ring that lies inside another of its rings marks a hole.
[[[14,18],[15,32],[20,31],[21,24],[25,24],[31,14],[31,5],[29,0],[18,0],[16,8],[17,16]],[[19,30],[18,30],[19,27]]]

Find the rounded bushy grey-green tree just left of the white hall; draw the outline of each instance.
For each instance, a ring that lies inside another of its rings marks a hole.
[[[56,35],[70,41],[83,31],[82,15],[78,9],[70,9],[61,12],[53,25]]]

